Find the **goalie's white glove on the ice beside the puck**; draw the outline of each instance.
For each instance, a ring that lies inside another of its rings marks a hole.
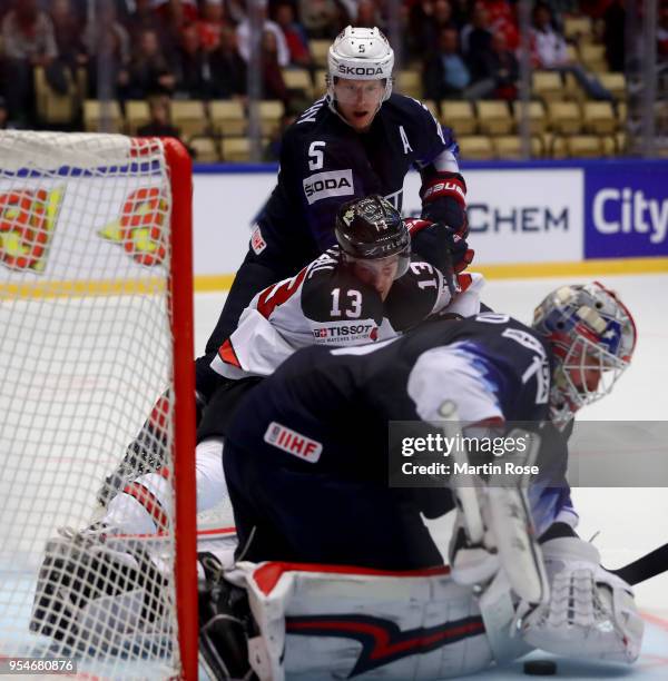
[[[542,553],[551,595],[537,609],[520,603],[515,626],[524,641],[569,658],[633,662],[644,625],[629,584],[578,537],[550,540]]]

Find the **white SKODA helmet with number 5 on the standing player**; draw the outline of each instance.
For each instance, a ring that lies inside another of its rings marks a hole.
[[[334,101],[334,79],[385,79],[383,101],[392,95],[394,50],[380,29],[346,26],[335,38],[327,55],[327,98]]]

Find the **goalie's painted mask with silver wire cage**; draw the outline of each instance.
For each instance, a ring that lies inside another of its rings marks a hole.
[[[593,282],[550,294],[536,308],[532,326],[547,336],[557,358],[550,412],[562,427],[612,389],[631,361],[636,325],[617,296]]]

